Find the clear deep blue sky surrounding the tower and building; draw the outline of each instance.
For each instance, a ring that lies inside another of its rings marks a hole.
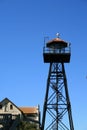
[[[71,42],[66,64],[74,127],[87,129],[87,1],[0,0],[0,100],[42,111],[49,64],[44,37]]]

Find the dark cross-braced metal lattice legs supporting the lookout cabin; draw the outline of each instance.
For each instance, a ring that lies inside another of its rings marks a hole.
[[[63,63],[50,63],[42,130],[74,130]]]

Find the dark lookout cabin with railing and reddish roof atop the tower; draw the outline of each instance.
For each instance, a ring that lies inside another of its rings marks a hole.
[[[68,63],[70,56],[70,44],[60,38],[52,39],[44,45],[43,57],[45,63]]]

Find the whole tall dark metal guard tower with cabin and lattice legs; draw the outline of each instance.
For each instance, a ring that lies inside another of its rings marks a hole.
[[[45,43],[43,58],[50,63],[43,106],[42,130],[74,130],[64,63],[70,62],[70,44],[59,37]]]

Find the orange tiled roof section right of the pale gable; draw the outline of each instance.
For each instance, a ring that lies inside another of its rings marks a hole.
[[[35,114],[38,113],[37,107],[19,107],[24,114]]]

